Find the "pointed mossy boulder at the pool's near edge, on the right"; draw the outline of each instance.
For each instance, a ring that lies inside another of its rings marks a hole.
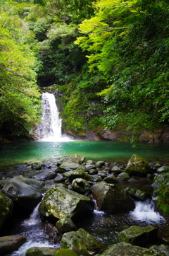
[[[146,176],[149,172],[151,172],[151,167],[149,166],[149,163],[147,163],[141,156],[132,155],[127,163],[125,172],[130,176]]]

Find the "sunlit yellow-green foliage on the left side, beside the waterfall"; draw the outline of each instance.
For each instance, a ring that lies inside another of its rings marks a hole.
[[[1,129],[9,133],[25,134],[39,120],[40,93],[35,57],[27,44],[31,33],[20,21],[15,6],[8,7],[7,3],[0,10],[0,122]]]

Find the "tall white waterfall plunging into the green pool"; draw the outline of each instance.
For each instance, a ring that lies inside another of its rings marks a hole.
[[[61,134],[61,118],[54,94],[42,93],[42,121],[37,125],[35,134],[41,141],[69,141]]]

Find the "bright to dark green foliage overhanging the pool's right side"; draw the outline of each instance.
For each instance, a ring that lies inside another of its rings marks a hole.
[[[125,123],[139,136],[168,124],[168,6],[165,1],[100,0],[80,25],[75,44],[87,51],[89,70],[102,72],[107,88],[104,124]]]

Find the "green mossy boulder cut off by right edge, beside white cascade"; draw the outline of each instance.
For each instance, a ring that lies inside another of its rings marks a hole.
[[[154,204],[163,215],[169,216],[169,173],[156,175],[154,187]]]

